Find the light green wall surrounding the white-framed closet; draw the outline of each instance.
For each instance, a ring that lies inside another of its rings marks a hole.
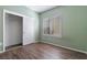
[[[35,19],[35,40],[39,40],[39,14],[24,6],[0,6],[0,42],[3,43],[3,21],[2,21],[2,12],[3,9],[18,12],[20,14],[24,14],[28,17],[32,17]],[[0,46],[2,50],[2,45]]]

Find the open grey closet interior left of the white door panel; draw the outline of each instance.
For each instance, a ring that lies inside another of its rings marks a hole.
[[[4,35],[6,35],[6,50],[22,46],[23,44],[23,18],[11,13],[6,13],[4,21]]]

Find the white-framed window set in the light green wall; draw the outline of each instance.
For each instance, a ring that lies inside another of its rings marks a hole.
[[[62,37],[62,18],[53,17],[43,20],[43,34]]]

